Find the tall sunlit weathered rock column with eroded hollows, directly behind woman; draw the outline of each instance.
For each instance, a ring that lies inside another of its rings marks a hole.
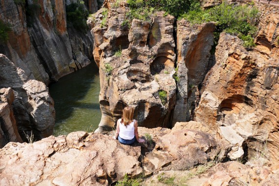
[[[168,127],[176,91],[172,78],[174,17],[157,12],[150,21],[132,20],[129,28],[123,25],[126,2],[121,1],[119,7],[112,3],[114,0],[105,1],[104,8],[89,21],[95,44],[93,55],[100,67],[102,119],[97,131],[113,128],[127,105],[135,108],[140,126]]]

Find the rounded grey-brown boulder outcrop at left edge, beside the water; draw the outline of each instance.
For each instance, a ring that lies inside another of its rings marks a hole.
[[[53,100],[46,85],[43,82],[28,78],[22,69],[16,68],[2,54],[0,54],[0,64],[1,100],[7,103],[11,110],[6,110],[6,114],[1,116],[3,120],[1,125],[5,125],[5,132],[9,131],[8,128],[13,128],[14,134],[9,132],[9,139],[21,141],[17,135],[17,130],[25,141],[27,141],[25,135],[34,135],[34,140],[41,140],[50,136],[53,132],[55,111]],[[7,107],[7,104],[1,105]],[[10,121],[6,117],[8,113]],[[17,126],[17,129],[15,126]],[[15,140],[12,136],[15,136],[18,140]]]

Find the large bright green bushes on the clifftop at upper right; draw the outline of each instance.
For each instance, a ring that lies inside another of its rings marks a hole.
[[[256,24],[259,19],[256,7],[232,5],[227,1],[223,1],[219,6],[202,10],[197,3],[191,4],[190,11],[182,15],[181,18],[186,19],[190,23],[215,22],[216,40],[219,39],[218,34],[225,31],[242,39],[244,47],[255,46],[253,37],[256,36]]]

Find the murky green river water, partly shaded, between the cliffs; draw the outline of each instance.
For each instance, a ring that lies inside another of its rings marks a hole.
[[[92,132],[101,120],[100,80],[94,62],[49,85],[56,112],[54,136]]]

